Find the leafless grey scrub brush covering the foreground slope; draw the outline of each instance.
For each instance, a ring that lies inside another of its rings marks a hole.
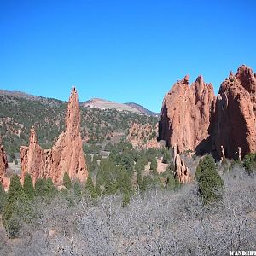
[[[38,218],[20,223],[19,239],[0,232],[0,254],[202,256],[253,250],[255,178],[240,167],[223,178],[223,201],[207,207],[196,183],[135,196],[126,207],[116,195],[78,202],[63,193],[50,202],[34,201]]]

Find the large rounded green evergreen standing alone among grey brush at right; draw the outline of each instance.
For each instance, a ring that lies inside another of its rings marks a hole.
[[[218,175],[212,155],[207,154],[202,160],[197,179],[199,195],[205,204],[221,199],[218,190],[224,186],[224,182]]]

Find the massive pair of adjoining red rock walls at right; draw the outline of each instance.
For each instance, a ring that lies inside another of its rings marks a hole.
[[[212,84],[201,76],[189,86],[186,76],[172,86],[161,110],[160,139],[181,152],[212,152],[241,160],[256,152],[256,74],[245,65],[221,84],[214,96]]]

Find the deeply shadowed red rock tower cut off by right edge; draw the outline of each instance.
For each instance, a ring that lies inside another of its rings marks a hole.
[[[221,84],[217,101],[213,148],[221,156],[221,146],[228,158],[256,152],[256,75],[242,65],[236,75]],[[239,156],[238,156],[239,157]]]

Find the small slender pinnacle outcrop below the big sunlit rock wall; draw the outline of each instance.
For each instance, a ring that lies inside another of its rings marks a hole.
[[[173,162],[174,162],[174,177],[180,183],[189,183],[192,180],[191,172],[185,165],[185,161],[181,159],[180,154],[177,152],[177,145],[173,147]]]

